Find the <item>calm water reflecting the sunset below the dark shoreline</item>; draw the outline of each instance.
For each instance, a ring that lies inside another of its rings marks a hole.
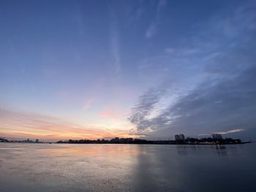
[[[255,191],[255,147],[0,143],[0,191]]]

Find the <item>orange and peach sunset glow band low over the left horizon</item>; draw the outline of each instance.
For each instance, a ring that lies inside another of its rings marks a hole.
[[[3,111],[2,111],[3,112]],[[131,128],[106,128],[105,126],[81,126],[60,118],[4,111],[0,117],[0,136],[12,139],[41,139],[45,141],[67,139],[106,139],[139,135]]]

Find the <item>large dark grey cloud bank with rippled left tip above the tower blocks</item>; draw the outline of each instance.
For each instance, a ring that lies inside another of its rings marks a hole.
[[[151,137],[154,134],[164,137],[177,131],[195,135],[256,128],[255,82],[256,66],[233,78],[223,77],[218,82],[208,80],[150,119],[148,114],[154,110],[164,92],[148,91],[140,97],[129,120],[138,131],[153,130],[148,133]]]

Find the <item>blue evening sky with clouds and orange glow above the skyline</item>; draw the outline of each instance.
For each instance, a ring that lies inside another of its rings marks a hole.
[[[256,1],[1,1],[0,136],[256,139]]]

